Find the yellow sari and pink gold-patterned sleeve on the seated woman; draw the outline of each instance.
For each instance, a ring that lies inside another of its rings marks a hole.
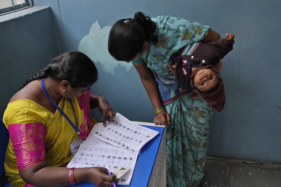
[[[90,133],[90,90],[71,102],[84,141]],[[70,101],[61,98],[58,106],[75,124]],[[20,178],[20,169],[43,160],[47,166],[60,167],[71,160],[70,141],[78,137],[77,132],[58,110],[52,113],[32,100],[20,99],[8,104],[3,122],[10,134],[4,167],[11,186],[31,186]]]

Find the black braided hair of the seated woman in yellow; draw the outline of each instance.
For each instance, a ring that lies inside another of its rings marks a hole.
[[[46,67],[27,79],[21,89],[31,81],[44,77],[51,77],[59,82],[67,80],[73,88],[87,87],[97,81],[97,68],[84,53],[66,52],[54,58]]]

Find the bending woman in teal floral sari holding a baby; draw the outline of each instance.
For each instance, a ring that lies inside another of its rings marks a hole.
[[[167,186],[201,186],[213,109],[193,93],[182,93],[169,71],[173,53],[198,41],[220,39],[206,25],[183,18],[150,18],[137,12],[118,20],[109,32],[108,50],[132,62],[154,107],[155,124],[165,124]],[[169,66],[168,66],[168,65]]]

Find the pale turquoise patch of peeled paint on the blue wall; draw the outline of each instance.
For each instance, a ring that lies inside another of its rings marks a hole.
[[[133,64],[117,61],[109,54],[107,42],[110,29],[109,26],[101,29],[96,21],[92,24],[89,34],[80,41],[78,51],[85,53],[94,63],[100,63],[105,72],[114,75],[114,69],[118,65],[129,71]]]

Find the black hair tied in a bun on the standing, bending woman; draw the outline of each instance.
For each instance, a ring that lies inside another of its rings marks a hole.
[[[108,51],[116,60],[132,60],[142,50],[143,42],[157,43],[155,29],[155,22],[142,12],[118,20],[109,32]]]

